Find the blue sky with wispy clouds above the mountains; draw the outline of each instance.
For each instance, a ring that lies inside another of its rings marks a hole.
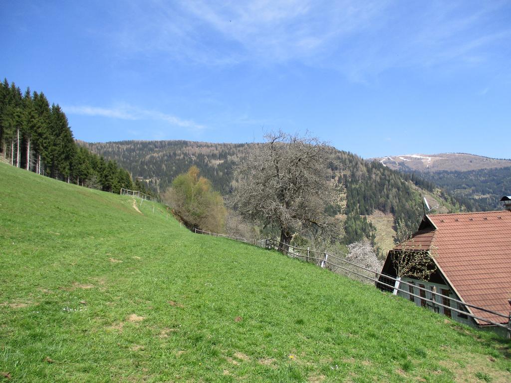
[[[78,139],[509,158],[509,1],[2,2],[0,77]]]

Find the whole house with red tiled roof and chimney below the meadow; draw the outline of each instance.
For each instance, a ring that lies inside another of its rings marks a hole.
[[[425,280],[403,276],[401,280],[409,284],[402,283],[401,291],[395,292],[458,322],[505,333],[505,329],[481,319],[508,325],[509,318],[463,304],[505,316],[511,309],[508,301],[511,299],[511,196],[503,197],[501,201],[504,201],[506,210],[424,216],[412,237],[389,251],[382,274],[397,276],[393,259],[404,251],[429,254],[435,270]],[[383,289],[392,290],[388,285]],[[435,296],[431,292],[441,295]],[[428,299],[435,302],[428,302]],[[481,319],[472,318],[470,314]]]

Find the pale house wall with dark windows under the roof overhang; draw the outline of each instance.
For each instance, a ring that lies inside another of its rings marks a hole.
[[[435,302],[443,303],[441,296],[431,294],[431,291],[433,290],[433,288],[436,288],[437,294],[442,294],[442,290],[448,290],[450,298],[459,300],[459,297],[446,284],[442,284],[442,283],[438,283],[438,282],[427,282],[427,281],[413,279],[413,278],[402,278],[402,280],[405,282],[413,283],[416,286],[413,288],[413,291],[414,291],[413,294],[415,294],[415,295],[421,295],[418,287],[419,287],[419,285],[424,285],[424,288],[428,290],[425,292],[426,299],[432,299]],[[401,284],[400,289],[408,291],[409,286],[407,284]],[[412,300],[417,306],[423,305],[420,298],[410,296],[409,294],[403,293],[401,291],[398,292],[398,294],[399,294],[399,296],[401,296],[405,299]],[[449,300],[448,302],[451,307],[457,308],[459,310],[464,310],[463,306],[461,306],[461,305],[458,306],[457,303],[452,302],[451,300]],[[434,311],[435,313],[444,314],[444,315],[449,316],[448,309],[445,307],[434,305],[431,302],[425,302],[425,307],[428,307],[430,310]],[[475,323],[475,321],[471,317],[467,317],[466,315],[463,315],[461,313],[457,313],[454,311],[451,311],[450,314],[451,314],[450,317],[453,320],[455,320],[456,322],[460,322],[460,323],[463,323],[463,324],[466,324],[466,325],[469,325],[472,327],[478,327],[477,324]]]

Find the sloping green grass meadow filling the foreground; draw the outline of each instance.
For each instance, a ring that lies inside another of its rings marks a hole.
[[[0,381],[511,379],[508,343],[0,163]],[[154,206],[154,213],[153,213]]]

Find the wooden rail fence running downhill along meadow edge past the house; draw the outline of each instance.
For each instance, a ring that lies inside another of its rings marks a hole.
[[[437,312],[437,310],[439,310],[439,308],[442,307],[445,310],[448,310],[449,312],[459,313],[463,316],[471,317],[474,320],[479,320],[480,322],[488,323],[490,325],[503,328],[507,330],[508,335],[511,334],[511,313],[503,314],[484,307],[479,307],[458,300],[456,298],[452,298],[450,296],[437,293],[435,290],[430,290],[425,287],[423,288],[414,283],[402,280],[399,277],[393,277],[390,275],[382,274],[380,271],[377,270],[371,270],[367,267],[358,265],[354,262],[351,262],[345,258],[339,257],[334,254],[329,254],[324,251],[311,250],[310,248],[305,249],[293,247],[290,246],[289,244],[285,244],[281,241],[275,240],[274,238],[269,238],[265,240],[246,240],[245,238],[236,237],[233,235],[212,233],[199,229],[195,229],[195,232],[198,234],[206,234],[217,237],[229,238],[231,240],[244,242],[250,245],[263,247],[266,249],[281,248],[284,249],[285,254],[292,258],[298,258],[306,262],[314,262],[318,267],[329,269],[333,272],[346,275],[358,281],[373,284],[376,288],[380,290],[391,291],[393,295],[403,293],[405,297],[409,297],[410,300],[413,299],[413,301],[415,301],[415,298],[417,298],[420,300],[423,306],[428,305],[429,308],[433,309],[435,312]],[[408,290],[405,290],[405,288],[407,288]],[[418,294],[415,294],[416,291],[418,291]],[[456,306],[458,308],[456,308]],[[466,309],[463,309],[463,307],[466,307]],[[491,316],[502,318],[502,320],[497,322],[489,318],[483,318],[480,316],[480,314],[479,315],[474,314],[473,312],[474,310],[489,314]]]

